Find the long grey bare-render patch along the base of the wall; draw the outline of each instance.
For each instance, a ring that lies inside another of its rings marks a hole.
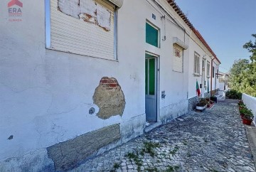
[[[48,157],[53,159],[56,171],[63,171],[94,156],[102,147],[120,138],[119,124],[113,124],[48,147]]]

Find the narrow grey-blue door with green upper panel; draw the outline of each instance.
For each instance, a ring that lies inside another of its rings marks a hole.
[[[146,121],[156,122],[156,81],[157,81],[157,58],[146,54],[145,59],[145,107]]]

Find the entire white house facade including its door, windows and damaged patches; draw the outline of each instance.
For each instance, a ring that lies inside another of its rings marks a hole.
[[[220,60],[174,1],[10,2],[0,6],[0,171],[72,168],[146,122],[188,113],[196,81],[201,97],[218,89]]]

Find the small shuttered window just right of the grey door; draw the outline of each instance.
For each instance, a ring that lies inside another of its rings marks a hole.
[[[174,63],[173,70],[183,72],[183,48],[174,44]]]

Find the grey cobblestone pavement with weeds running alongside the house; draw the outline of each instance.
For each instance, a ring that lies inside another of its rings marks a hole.
[[[85,162],[72,171],[255,171],[238,106],[218,102]]]

